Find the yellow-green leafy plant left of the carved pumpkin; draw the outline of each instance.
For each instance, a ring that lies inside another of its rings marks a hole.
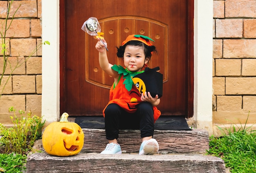
[[[45,123],[42,122],[42,117],[36,115],[31,117],[31,111],[27,116],[16,116],[16,111],[12,107],[9,108],[14,116],[10,116],[13,122],[13,127],[5,128],[0,124],[0,147],[4,149],[5,153],[14,152],[19,154],[26,154],[32,150],[34,142],[41,138],[42,127]],[[20,110],[20,113],[24,111]]]

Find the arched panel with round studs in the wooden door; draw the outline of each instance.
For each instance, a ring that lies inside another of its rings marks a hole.
[[[147,35],[150,38],[153,38],[155,40],[155,42],[153,42],[155,47],[162,47],[165,45],[163,51],[158,52],[157,55],[153,55],[153,58],[149,62],[149,66],[159,66],[161,73],[163,73],[163,82],[168,80],[168,26],[166,24],[135,16],[106,18],[100,20],[99,23],[101,25],[101,32],[106,33],[106,37],[103,36],[107,40],[109,47],[112,45],[121,45],[122,41],[125,40],[128,35],[133,33]],[[85,50],[89,50],[89,45],[93,45],[95,42],[97,41],[94,37],[85,34],[85,45],[87,46]],[[116,53],[117,51],[115,50],[108,52],[109,61],[113,64],[122,65],[122,59],[118,59]],[[92,58],[94,56],[95,50],[85,51],[85,80],[86,82],[95,84],[99,87],[110,89],[113,84],[113,78],[105,75],[99,68],[99,60],[97,58]]]

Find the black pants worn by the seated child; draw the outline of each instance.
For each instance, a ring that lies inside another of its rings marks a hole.
[[[153,114],[153,106],[149,102],[138,104],[135,113],[128,113],[117,104],[109,104],[105,110],[107,140],[118,139],[119,129],[139,129],[141,138],[153,136]]]

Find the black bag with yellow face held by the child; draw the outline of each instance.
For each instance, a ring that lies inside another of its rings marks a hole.
[[[161,98],[163,95],[163,74],[157,72],[160,68],[155,67],[150,69],[146,67],[144,73],[135,75],[132,78],[133,83],[137,87],[140,93],[150,92],[150,95],[154,98],[158,95]]]

